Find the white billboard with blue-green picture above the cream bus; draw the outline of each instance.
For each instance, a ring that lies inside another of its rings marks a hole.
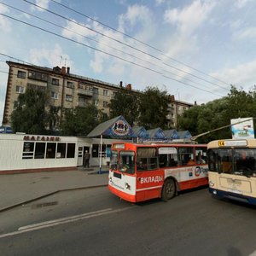
[[[232,138],[254,138],[253,118],[231,119]]]

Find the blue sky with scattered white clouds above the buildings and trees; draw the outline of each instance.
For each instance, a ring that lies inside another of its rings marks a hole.
[[[230,84],[253,90],[255,9],[253,0],[0,0],[0,124],[6,61],[197,104],[227,96]]]

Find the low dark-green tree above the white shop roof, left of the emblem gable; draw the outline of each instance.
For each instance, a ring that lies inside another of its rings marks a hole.
[[[92,104],[84,108],[66,109],[61,121],[61,135],[86,136],[99,124],[100,114]]]

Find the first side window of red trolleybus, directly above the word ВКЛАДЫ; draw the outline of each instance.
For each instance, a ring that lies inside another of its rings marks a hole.
[[[157,168],[156,148],[137,148],[137,171]]]

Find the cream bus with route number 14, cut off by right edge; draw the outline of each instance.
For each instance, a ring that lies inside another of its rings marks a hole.
[[[213,141],[207,148],[210,192],[256,205],[256,139]]]

